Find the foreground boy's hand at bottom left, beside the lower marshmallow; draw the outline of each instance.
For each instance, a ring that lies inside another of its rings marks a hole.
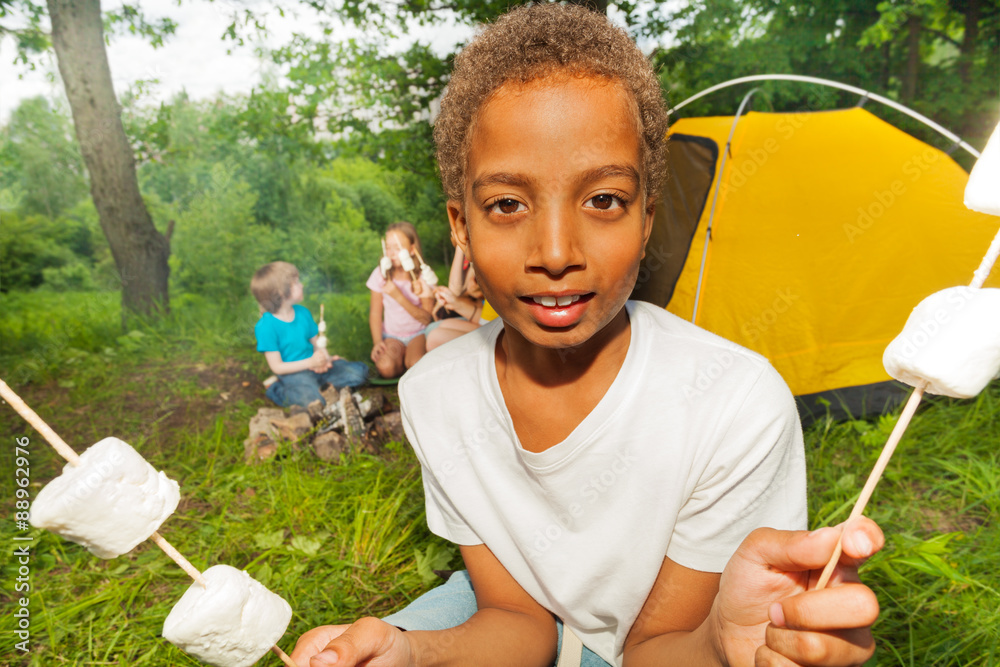
[[[299,667],[407,667],[410,642],[399,628],[377,618],[351,625],[321,625],[299,637],[292,651]]]

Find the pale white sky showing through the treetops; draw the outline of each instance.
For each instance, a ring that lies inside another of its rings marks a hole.
[[[285,5],[284,17],[270,11],[265,46],[284,45],[294,33],[313,37],[321,34],[319,17],[312,10],[299,3]],[[107,6],[108,3],[105,3]],[[154,86],[152,96],[145,98],[146,103],[167,100],[181,90],[186,90],[194,99],[211,98],[220,91],[249,92],[269,65],[257,58],[253,46],[233,46],[232,42],[221,39],[226,26],[232,21],[234,8],[247,6],[267,9],[272,5],[257,0],[240,3],[187,0],[178,6],[176,0],[146,0],[142,8],[147,16],[170,17],[177,23],[177,32],[159,49],[154,49],[141,37],[114,37],[108,47],[108,61],[115,91],[121,96],[138,80],[158,79],[160,83]],[[332,39],[340,41],[360,35],[352,27],[339,25]],[[452,25],[418,30],[406,41],[430,41],[443,54],[455,43],[465,41],[469,35],[468,28]],[[227,48],[232,48],[233,52],[227,54]],[[63,97],[54,55],[36,57],[35,71],[14,66],[14,55],[13,40],[0,40],[0,124],[6,123],[11,111],[27,97]],[[22,78],[18,78],[19,74]],[[49,75],[55,76],[55,82],[49,80]]]

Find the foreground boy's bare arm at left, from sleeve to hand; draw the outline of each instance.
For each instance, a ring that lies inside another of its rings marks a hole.
[[[553,616],[514,581],[485,545],[461,549],[479,607],[465,623],[448,630],[405,633],[377,619],[347,627],[322,626],[299,639],[292,659],[309,665],[312,656],[332,651],[339,657],[338,667],[551,665],[557,636]]]

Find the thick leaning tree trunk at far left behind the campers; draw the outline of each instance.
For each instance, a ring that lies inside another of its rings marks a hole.
[[[90,194],[122,285],[122,322],[131,312],[169,307],[170,245],[139,194],[132,147],[111,83],[99,0],[47,0],[52,44],[73,111]]]

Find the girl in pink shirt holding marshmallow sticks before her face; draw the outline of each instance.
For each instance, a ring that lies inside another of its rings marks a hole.
[[[409,222],[395,222],[386,229],[385,249],[392,260],[389,275],[376,267],[368,277],[371,290],[368,324],[372,332],[372,361],[384,378],[399,377],[426,352],[424,327],[431,321],[433,294],[422,278],[411,280],[399,259],[407,253],[417,267],[420,241]]]

